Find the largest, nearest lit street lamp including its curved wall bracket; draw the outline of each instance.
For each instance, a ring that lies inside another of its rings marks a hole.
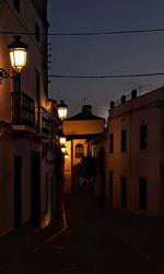
[[[27,44],[21,41],[21,36],[14,36],[14,41],[8,46],[10,50],[10,60],[12,68],[16,71],[16,76],[21,73],[21,70],[26,66]],[[3,79],[12,78],[16,76],[10,76],[7,70],[0,68],[0,83]]]

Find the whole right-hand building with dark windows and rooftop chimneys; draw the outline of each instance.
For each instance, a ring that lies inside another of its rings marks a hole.
[[[106,204],[113,209],[164,214],[164,88],[110,103]]]

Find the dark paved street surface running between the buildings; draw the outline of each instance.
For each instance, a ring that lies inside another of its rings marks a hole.
[[[112,213],[83,193],[67,196],[66,218],[58,237],[15,254],[0,273],[164,273],[163,219]]]

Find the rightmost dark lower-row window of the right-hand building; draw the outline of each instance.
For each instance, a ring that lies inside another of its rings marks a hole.
[[[148,204],[148,182],[147,178],[140,178],[139,207],[145,210]]]

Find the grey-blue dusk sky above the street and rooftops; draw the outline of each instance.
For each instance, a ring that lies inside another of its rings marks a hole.
[[[113,32],[164,27],[163,0],[49,0],[49,33]],[[49,36],[49,75],[112,76],[164,72],[164,32]],[[49,96],[63,99],[69,116],[92,104],[107,116],[109,102],[164,85],[164,76],[120,79],[50,78]]]

